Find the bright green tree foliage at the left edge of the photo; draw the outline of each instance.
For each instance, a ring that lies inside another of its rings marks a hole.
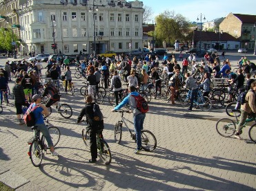
[[[17,41],[17,36],[13,34],[14,41]],[[19,43],[17,43],[19,45]],[[0,49],[2,51],[12,51],[12,30],[0,27]]]

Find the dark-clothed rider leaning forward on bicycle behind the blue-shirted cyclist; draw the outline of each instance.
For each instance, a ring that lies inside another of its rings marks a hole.
[[[53,85],[49,84],[49,81],[43,82],[43,85],[46,87],[46,89],[44,89],[42,96],[43,97],[45,97],[46,95],[50,96],[50,99],[46,103],[46,107],[49,107],[52,104],[55,104],[56,102],[58,102],[60,100],[60,95],[58,94],[57,89]],[[57,108],[57,104],[55,104],[55,105]]]

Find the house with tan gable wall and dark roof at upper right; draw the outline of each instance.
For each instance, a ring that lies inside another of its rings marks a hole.
[[[255,49],[256,15],[233,14],[219,24],[219,30],[227,32],[239,40],[239,48]]]

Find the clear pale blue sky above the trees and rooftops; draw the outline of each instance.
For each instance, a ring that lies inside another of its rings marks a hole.
[[[213,21],[213,19],[225,17],[230,12],[237,14],[255,14],[256,0],[139,0],[143,1],[152,9],[154,20],[155,16],[163,13],[165,10],[175,11],[175,14],[182,14],[188,21],[197,21],[202,19],[205,21]],[[151,22],[152,23],[152,22]]]

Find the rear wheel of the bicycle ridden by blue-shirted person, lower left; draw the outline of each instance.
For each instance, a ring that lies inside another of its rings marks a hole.
[[[37,140],[33,140],[30,144],[29,154],[32,164],[35,167],[39,167],[43,160],[43,148]]]

